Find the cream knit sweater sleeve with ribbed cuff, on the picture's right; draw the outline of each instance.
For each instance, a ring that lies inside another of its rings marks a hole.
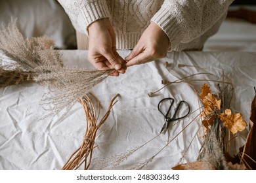
[[[209,30],[234,0],[165,0],[151,21],[169,37],[171,50]]]

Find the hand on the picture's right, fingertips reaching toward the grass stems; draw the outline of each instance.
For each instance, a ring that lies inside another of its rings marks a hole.
[[[152,22],[142,33],[135,48],[125,58],[128,61],[126,66],[129,67],[153,61],[154,59],[165,58],[168,46],[169,39],[167,35],[157,24]]]

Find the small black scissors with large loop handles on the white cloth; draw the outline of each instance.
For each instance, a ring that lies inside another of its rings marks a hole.
[[[160,110],[160,105],[163,101],[170,101],[171,105],[169,106],[166,114],[164,114],[161,110]],[[171,122],[174,122],[176,120],[181,120],[182,118],[185,118],[186,116],[188,116],[188,114],[190,113],[190,105],[186,102],[186,101],[180,101],[177,108],[174,110],[174,114],[171,117],[171,108],[173,107],[175,99],[173,98],[164,98],[161,99],[161,101],[158,103],[158,110],[161,112],[161,114],[163,114],[163,116],[165,117],[165,124],[163,124],[163,127],[161,128],[160,133],[165,134],[169,125],[171,124]],[[184,104],[186,105],[186,107],[188,108],[188,113],[184,116],[181,116],[179,118],[176,118],[177,113],[179,112],[179,110],[181,109],[181,105]],[[169,117],[170,116],[170,117]]]

